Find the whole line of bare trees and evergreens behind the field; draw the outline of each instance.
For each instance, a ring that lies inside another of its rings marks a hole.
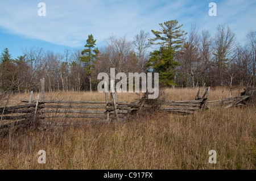
[[[159,23],[159,31],[141,30],[132,41],[110,36],[104,47],[88,35],[84,49],[53,52],[38,47],[23,49],[11,57],[5,48],[0,57],[0,89],[16,92],[39,90],[45,78],[47,91],[97,90],[98,73],[158,72],[160,86],[255,86],[256,31],[249,31],[244,45],[228,26],[219,25],[214,35],[189,32],[177,20]]]

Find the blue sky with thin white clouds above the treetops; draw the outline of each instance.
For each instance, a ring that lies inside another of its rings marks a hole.
[[[39,2],[46,3],[46,16],[38,15]],[[209,16],[210,2],[216,3],[217,16]],[[9,48],[13,58],[26,47],[63,53],[83,48],[91,33],[102,47],[111,35],[133,40],[139,31],[151,33],[175,19],[186,32],[196,22],[211,35],[218,24],[228,25],[243,44],[246,33],[256,31],[255,12],[255,0],[0,0],[0,51]]]

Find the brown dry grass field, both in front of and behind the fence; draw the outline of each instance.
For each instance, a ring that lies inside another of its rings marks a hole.
[[[238,96],[242,89],[233,90]],[[196,89],[168,89],[168,100],[195,99]],[[209,100],[228,98],[228,87],[211,88]],[[35,94],[34,94],[35,97]],[[133,102],[137,94],[117,94]],[[11,95],[9,105],[29,94]],[[46,92],[46,99],[105,100],[98,92]],[[142,115],[126,123],[36,127],[0,137],[0,169],[255,169],[256,108],[213,107],[181,117]],[[46,151],[46,164],[38,151]],[[217,163],[208,162],[209,150]]]

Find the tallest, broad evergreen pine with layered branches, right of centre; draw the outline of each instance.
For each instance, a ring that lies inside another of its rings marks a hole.
[[[177,20],[159,23],[161,31],[151,30],[155,38],[149,40],[151,44],[160,45],[160,49],[151,52],[146,66],[159,73],[159,83],[162,86],[175,85],[175,68],[180,65],[174,57],[184,41],[183,36],[187,33],[180,30],[183,24],[177,26],[177,23]]]

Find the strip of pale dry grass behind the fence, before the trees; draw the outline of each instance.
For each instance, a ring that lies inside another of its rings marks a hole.
[[[192,88],[175,88],[164,90],[167,100],[194,100],[198,89]],[[243,89],[234,89],[233,96],[239,96]],[[39,92],[34,92],[33,99]],[[201,95],[201,92],[200,92]],[[118,101],[134,102],[135,99],[140,98],[142,94],[138,93],[117,93]],[[225,99],[229,97],[229,87],[211,87],[209,100]],[[14,94],[11,96],[9,106],[20,103],[20,99],[29,99],[30,94]],[[46,100],[91,100],[100,101],[105,100],[105,94],[99,92],[46,92]]]

